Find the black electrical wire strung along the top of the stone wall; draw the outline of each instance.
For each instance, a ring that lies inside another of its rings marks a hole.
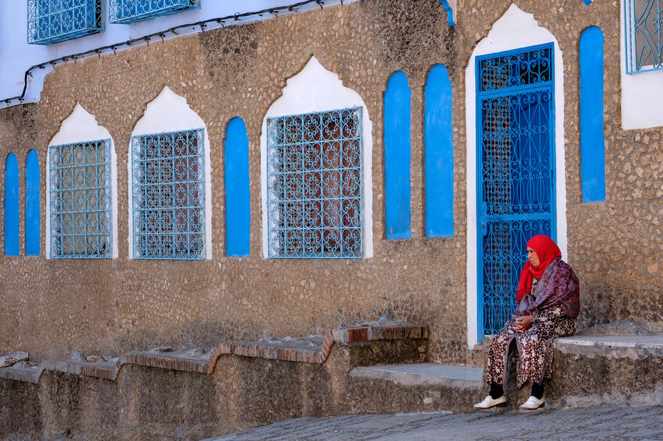
[[[86,50],[84,52],[77,52],[75,54],[65,55],[64,57],[58,57],[50,61],[46,61],[44,63],[35,64],[34,66],[30,66],[30,68],[26,70],[25,77],[23,78],[23,92],[21,92],[21,95],[17,95],[16,97],[0,98],[0,102],[3,102],[8,106],[12,101],[23,101],[23,99],[26,96],[26,92],[28,90],[28,77],[32,77],[32,72],[34,70],[44,69],[46,68],[46,66],[52,66],[53,68],[55,68],[55,66],[59,64],[65,64],[68,61],[77,61],[78,59],[83,59],[86,57],[90,57],[92,55],[98,55],[99,57],[101,57],[102,54],[107,54],[110,52],[113,52],[115,54],[118,49],[126,48],[126,46],[132,46],[136,43],[146,44],[147,46],[149,46],[150,41],[152,41],[153,39],[161,39],[161,41],[163,42],[164,39],[166,39],[166,37],[176,36],[178,35],[177,34],[178,30],[184,30],[186,28],[195,29],[197,27],[200,27],[200,31],[205,32],[205,29],[210,25],[224,27],[226,23],[236,23],[237,21],[241,21],[242,19],[245,19],[247,17],[262,17],[266,14],[271,14],[274,17],[278,17],[278,14],[280,14],[281,12],[297,12],[298,8],[301,8],[302,6],[307,6],[311,3],[316,3],[318,6],[320,6],[320,9],[323,9],[323,5],[325,2],[323,0],[302,0],[285,6],[275,6],[273,8],[267,8],[253,12],[241,12],[241,13],[236,12],[235,14],[227,15],[225,17],[218,17],[215,19],[198,21],[196,23],[187,23],[178,26],[173,26],[173,28],[162,30],[160,32],[153,32],[148,35],[143,35],[142,37],[128,39],[126,41],[122,41],[120,43],[115,43],[115,44],[109,44],[107,46],[100,46],[99,48]],[[343,5],[343,0],[340,0],[340,4]]]

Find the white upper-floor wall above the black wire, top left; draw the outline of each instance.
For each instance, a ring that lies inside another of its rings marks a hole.
[[[257,12],[269,8],[278,8],[280,6],[289,6],[297,3],[298,0],[206,0],[201,2],[201,8],[178,12],[165,17],[157,17],[151,20],[140,21],[133,24],[114,24],[108,23],[108,0],[104,0],[104,26],[105,30],[95,35],[81,37],[62,43],[55,43],[48,46],[28,44],[28,6],[25,0],[0,0],[0,107],[6,107],[2,101],[8,98],[17,97],[23,92],[24,78],[26,70],[31,66],[46,63],[52,59],[60,59],[87,50],[94,50],[102,46],[109,46],[117,43],[124,43],[129,39],[140,38],[144,35],[153,34],[169,30],[175,26],[188,23],[198,23],[219,17],[233,16],[236,13],[244,14],[246,12]],[[344,3],[351,3],[357,0],[344,0]],[[340,0],[325,0],[325,8],[340,4]],[[320,8],[315,2],[297,8],[296,12],[303,12]],[[295,12],[295,13],[296,13]],[[286,14],[292,12],[280,12]],[[226,21],[225,26],[236,26],[238,24],[249,23],[273,19],[273,14],[253,15],[242,18],[240,21]],[[207,29],[220,27],[220,24],[209,23]],[[200,32],[200,26],[191,26],[178,30],[178,35],[186,35],[193,32]],[[170,32],[166,32],[166,38],[175,37]],[[119,50],[126,50],[125,47]],[[95,57],[97,55],[94,55]],[[73,61],[72,61],[73,62]],[[52,72],[52,66],[46,66],[44,69],[32,71],[32,77],[28,77],[28,88],[26,90],[25,101],[39,101],[44,77]],[[23,101],[23,102],[25,102]],[[12,101],[9,105],[19,104],[19,101]]]

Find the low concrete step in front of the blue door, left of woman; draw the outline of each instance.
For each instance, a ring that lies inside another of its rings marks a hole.
[[[468,412],[483,398],[482,376],[481,368],[450,364],[358,366],[349,373],[348,401],[374,413]]]

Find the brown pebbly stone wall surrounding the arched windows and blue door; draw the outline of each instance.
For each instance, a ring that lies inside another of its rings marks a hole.
[[[39,257],[0,257],[0,348],[29,351],[37,360],[66,356],[73,349],[117,354],[161,344],[211,346],[265,335],[307,335],[386,316],[430,326],[431,361],[471,360],[466,349],[465,193],[466,152],[474,146],[465,141],[465,68],[474,46],[510,5],[506,0],[464,1],[452,28],[439,0],[362,0],[54,68],[38,104],[0,110],[0,157],[13,151],[25,164],[28,150],[37,149],[43,243],[48,142],[77,103],[95,115],[117,151],[119,257],[46,259],[43,246]],[[581,280],[581,325],[620,318],[662,324],[663,239],[657,218],[663,202],[662,130],[620,128],[619,3],[523,0],[517,6],[555,35],[564,57],[568,255]],[[582,204],[580,193],[577,48],[588,26],[601,27],[606,41],[605,204]],[[372,121],[371,259],[261,255],[262,119],[287,79],[311,56],[361,95]],[[426,238],[423,224],[423,87],[436,63],[448,68],[454,90],[454,237],[443,239]],[[396,70],[407,74],[412,88],[413,237],[387,241],[383,92]],[[211,260],[128,259],[128,145],[146,105],[164,86],[186,98],[209,132]],[[223,141],[236,116],[244,119],[249,135],[248,258],[224,256]],[[23,204],[21,199],[21,210]]]

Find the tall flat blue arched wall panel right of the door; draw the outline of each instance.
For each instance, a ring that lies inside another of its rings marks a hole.
[[[580,172],[582,202],[606,202],[603,111],[604,37],[592,26],[580,36]]]

